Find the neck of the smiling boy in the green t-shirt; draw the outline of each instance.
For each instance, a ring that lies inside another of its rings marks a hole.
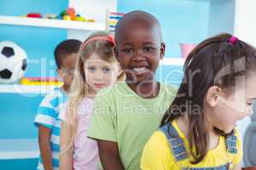
[[[148,82],[148,83],[129,83],[127,82],[129,88],[134,91],[137,95],[145,98],[152,99],[155,98],[160,91],[159,82]]]

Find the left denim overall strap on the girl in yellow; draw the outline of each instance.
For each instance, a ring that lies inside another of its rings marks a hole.
[[[184,159],[187,159],[188,153],[185,149],[183,139],[178,136],[177,130],[172,126],[172,124],[167,123],[163,127],[160,127],[160,130],[166,134],[166,138],[168,139],[172,154],[176,161],[183,161]]]

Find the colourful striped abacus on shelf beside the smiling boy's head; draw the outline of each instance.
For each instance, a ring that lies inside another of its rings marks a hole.
[[[107,23],[106,23],[106,30],[110,32],[114,32],[115,26],[117,22],[124,16],[123,13],[114,13],[109,12],[107,10]]]

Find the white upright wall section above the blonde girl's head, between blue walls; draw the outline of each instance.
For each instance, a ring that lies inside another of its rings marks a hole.
[[[107,9],[110,12],[117,11],[117,0],[69,0],[69,7],[76,9],[76,13],[85,19],[96,20],[96,23],[106,23]],[[90,31],[69,30],[67,38],[75,38],[84,41]]]

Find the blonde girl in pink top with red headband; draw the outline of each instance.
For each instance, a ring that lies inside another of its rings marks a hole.
[[[122,77],[113,47],[107,32],[96,32],[81,45],[67,109],[61,113],[62,170],[96,169],[97,144],[86,134],[96,92]]]

